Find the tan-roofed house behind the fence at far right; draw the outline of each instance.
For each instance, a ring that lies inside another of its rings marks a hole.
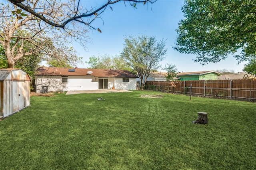
[[[237,80],[237,79],[255,79],[255,76],[245,72],[223,74],[223,75],[217,76],[217,80]]]

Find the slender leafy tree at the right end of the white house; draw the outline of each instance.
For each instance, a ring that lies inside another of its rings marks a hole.
[[[154,36],[145,35],[134,38],[129,36],[125,38],[124,49],[121,57],[126,59],[130,67],[137,71],[141,80],[141,88],[144,88],[149,73],[160,67],[159,63],[166,55],[166,40],[157,42]],[[144,81],[143,81],[144,79]]]

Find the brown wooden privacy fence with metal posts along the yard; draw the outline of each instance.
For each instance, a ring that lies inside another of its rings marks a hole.
[[[256,80],[146,81],[144,89],[256,102]]]

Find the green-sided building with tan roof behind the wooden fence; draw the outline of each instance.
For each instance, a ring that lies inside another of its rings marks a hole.
[[[217,71],[198,71],[198,72],[187,72],[187,73],[178,73],[180,81],[185,80],[216,80],[219,72]]]

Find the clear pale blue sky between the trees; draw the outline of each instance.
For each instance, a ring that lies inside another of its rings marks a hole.
[[[107,0],[81,0],[83,6],[101,6]],[[129,2],[118,2],[111,7],[107,7],[101,18],[96,19],[92,26],[100,28],[102,33],[97,30],[89,30],[87,35],[91,42],[86,44],[86,51],[78,44],[73,44],[79,55],[83,57],[83,64],[79,68],[87,68],[89,57],[95,55],[119,55],[124,48],[124,38],[126,36],[155,36],[157,40],[166,39],[167,54],[160,64],[175,64],[180,72],[210,71],[227,69],[228,71],[242,71],[244,64],[237,65],[234,57],[229,56],[219,63],[208,63],[204,66],[194,62],[194,55],[182,54],[172,48],[176,41],[176,29],[180,20],[184,19],[181,7],[183,0],[158,0],[154,4],[137,4],[137,8],[132,8]],[[163,71],[159,69],[159,71]]]

